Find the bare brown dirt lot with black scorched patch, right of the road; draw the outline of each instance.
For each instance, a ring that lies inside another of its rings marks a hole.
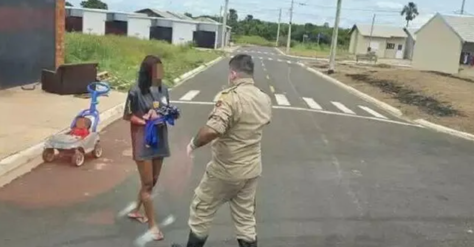
[[[326,71],[325,62],[307,63]],[[412,119],[426,119],[474,133],[474,78],[417,71],[386,64],[338,64],[331,77],[400,109]]]

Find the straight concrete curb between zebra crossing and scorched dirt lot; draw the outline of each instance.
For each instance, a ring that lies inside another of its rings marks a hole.
[[[300,65],[301,67],[305,68],[306,70],[318,75],[319,77],[323,78],[324,80],[328,81],[328,82],[332,82],[333,84],[336,84],[337,86],[343,88],[343,89],[346,89],[347,91],[349,91],[350,93],[362,98],[363,100],[365,101],[368,101],[370,103],[373,103],[375,105],[377,105],[378,107],[384,109],[385,111],[397,116],[397,117],[402,117],[403,114],[401,113],[401,111],[385,102],[382,102],[372,96],[369,96],[359,90],[357,90],[356,88],[352,87],[352,86],[349,86],[349,85],[346,85],[344,84],[343,82],[339,82],[338,80],[328,76],[328,75],[325,75],[324,73],[320,72],[320,71],[317,71],[313,68],[309,68],[308,66],[306,66],[305,64],[303,63],[297,63],[298,65]]]

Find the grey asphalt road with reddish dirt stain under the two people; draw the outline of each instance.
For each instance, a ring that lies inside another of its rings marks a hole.
[[[472,142],[392,117],[270,48],[245,49],[262,54],[254,55],[255,79],[275,108],[262,147],[260,246],[474,245]],[[173,213],[177,221],[163,227],[165,241],[147,246],[186,241],[192,191],[210,152],[197,152],[188,179],[184,148],[227,83],[226,61],[171,92],[183,118],[170,128],[172,157],[155,206],[160,220]],[[103,158],[82,167],[67,161],[41,165],[0,190],[1,247],[132,246],[146,227],[116,216],[136,197],[139,183],[127,124],[110,125],[102,139]],[[219,211],[207,246],[237,246],[227,207]]]

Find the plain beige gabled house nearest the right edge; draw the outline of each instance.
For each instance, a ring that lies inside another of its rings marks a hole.
[[[474,17],[437,13],[416,32],[412,67],[456,74],[473,54]]]

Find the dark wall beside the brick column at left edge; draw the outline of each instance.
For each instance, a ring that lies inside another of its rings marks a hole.
[[[54,70],[55,8],[56,0],[0,0],[0,89]]]

